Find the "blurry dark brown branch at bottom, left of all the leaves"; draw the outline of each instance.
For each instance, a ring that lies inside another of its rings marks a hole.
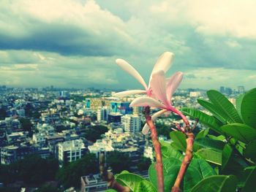
[[[99,172],[102,175],[102,179],[108,182],[108,188],[113,188],[119,192],[129,192],[129,188],[119,184],[113,173],[105,169],[105,154],[101,153],[99,156]]]

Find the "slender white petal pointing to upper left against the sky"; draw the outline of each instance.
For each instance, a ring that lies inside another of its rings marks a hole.
[[[124,59],[118,58],[116,59],[116,64],[118,64],[118,66],[120,66],[121,69],[124,69],[124,71],[132,75],[132,77],[135,77],[135,79],[138,80],[138,82],[140,82],[145,89],[148,89],[146,82],[143,80],[143,77],[141,77],[139,72],[137,72],[137,70],[134,69],[133,66],[128,64],[127,61],[124,61]]]

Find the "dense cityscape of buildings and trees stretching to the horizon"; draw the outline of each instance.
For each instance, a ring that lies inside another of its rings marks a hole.
[[[219,91],[233,104],[238,94],[245,92],[244,86],[222,86]],[[131,108],[133,97],[119,99],[113,93],[115,91],[95,88],[62,89],[53,85],[10,88],[1,85],[0,186],[6,191],[18,191],[18,188],[39,191],[45,186],[55,191],[104,191],[108,185],[99,177],[101,153],[105,153],[109,169],[114,173],[126,169],[147,178],[146,170],[154,161],[154,153],[149,135],[141,134],[145,123],[143,107]],[[179,89],[172,99],[178,108],[203,110],[197,99],[206,99],[206,91]],[[175,128],[175,123],[182,124],[182,121],[173,114],[157,119],[160,140],[171,142],[169,132]],[[197,131],[202,128],[199,123]],[[28,165],[24,165],[24,159],[27,164],[45,166],[34,173],[45,174],[45,177],[31,178],[34,170],[26,169]],[[79,161],[81,159],[86,163]],[[117,161],[121,165],[116,166]],[[83,170],[84,166],[87,168]],[[69,174],[71,178],[67,177]]]

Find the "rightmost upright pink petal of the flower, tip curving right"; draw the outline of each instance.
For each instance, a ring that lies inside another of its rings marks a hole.
[[[178,85],[181,83],[182,77],[183,77],[182,72],[176,72],[176,74],[173,74],[173,76],[170,77],[170,80],[167,82],[166,92],[167,92],[167,100],[169,101],[169,103],[171,103],[171,98],[173,96],[173,93],[176,91],[176,89],[178,88]]]

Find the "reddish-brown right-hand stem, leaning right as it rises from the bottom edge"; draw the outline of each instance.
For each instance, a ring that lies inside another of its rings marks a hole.
[[[186,133],[186,135],[187,135],[186,154],[185,154],[184,159],[181,163],[181,168],[179,169],[176,181],[175,181],[175,183],[173,185],[173,188],[172,188],[172,192],[181,191],[181,189],[180,189],[181,181],[183,180],[184,175],[187,171],[187,168],[189,167],[189,164],[190,164],[190,162],[193,158],[193,144],[194,144],[195,135],[192,132]]]

